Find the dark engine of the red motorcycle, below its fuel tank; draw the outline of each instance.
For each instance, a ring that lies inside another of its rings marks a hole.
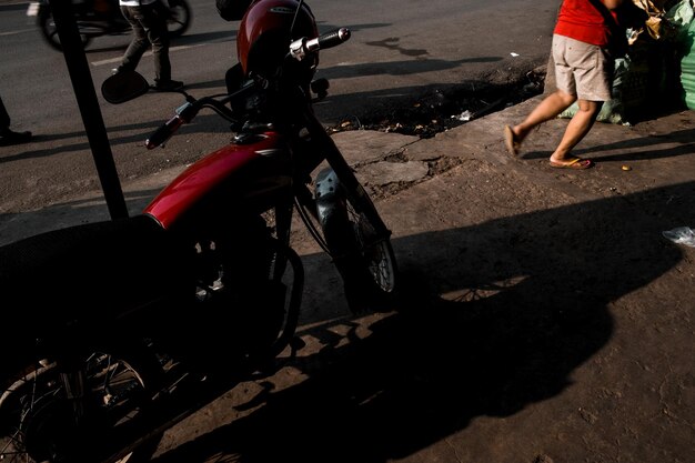
[[[291,278],[276,278],[278,253],[265,222],[240,220],[198,243],[201,275],[194,310],[168,318],[167,344],[207,371],[268,351],[284,325]],[[219,238],[224,236],[224,238]],[[212,363],[210,363],[212,362]]]

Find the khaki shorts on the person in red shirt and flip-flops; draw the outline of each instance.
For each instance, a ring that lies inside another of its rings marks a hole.
[[[611,100],[613,60],[606,50],[554,34],[553,60],[558,90],[581,100]]]

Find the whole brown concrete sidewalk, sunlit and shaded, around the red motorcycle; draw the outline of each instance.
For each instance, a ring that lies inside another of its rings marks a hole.
[[[662,232],[695,228],[695,113],[597,123],[576,150],[596,167],[571,171],[547,164],[566,120],[506,153],[504,124],[536,102],[425,140],[336,133],[394,232],[409,316],[352,316],[300,240],[308,348],[168,432],[160,459],[694,461],[695,249]],[[177,173],[124,184],[130,210]],[[107,219],[97,192],[0,235]]]

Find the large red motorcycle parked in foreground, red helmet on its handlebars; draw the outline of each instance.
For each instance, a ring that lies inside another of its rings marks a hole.
[[[14,301],[0,338],[3,461],[147,459],[175,423],[276,372],[303,345],[294,213],[353,311],[397,309],[391,232],[312,110],[329,88],[314,80],[319,51],[349,38],[319,36],[302,0],[255,0],[228,92],[182,91],[185,103],[147,140],[160,147],[210,109],[230,122],[230,144],[141,214],[0,248],[0,290]],[[132,71],[102,85],[111,103],[147,92]]]

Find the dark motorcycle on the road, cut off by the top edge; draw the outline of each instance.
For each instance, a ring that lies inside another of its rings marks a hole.
[[[191,7],[187,0],[158,0],[169,10],[169,36],[183,36],[193,19]],[[72,10],[80,32],[82,47],[87,47],[94,38],[103,36],[122,36],[131,32],[130,24],[121,14],[118,0],[73,0]],[[27,16],[36,17],[37,26],[46,42],[58,51],[62,44],[58,37],[58,28],[51,13],[49,0],[32,1]]]

